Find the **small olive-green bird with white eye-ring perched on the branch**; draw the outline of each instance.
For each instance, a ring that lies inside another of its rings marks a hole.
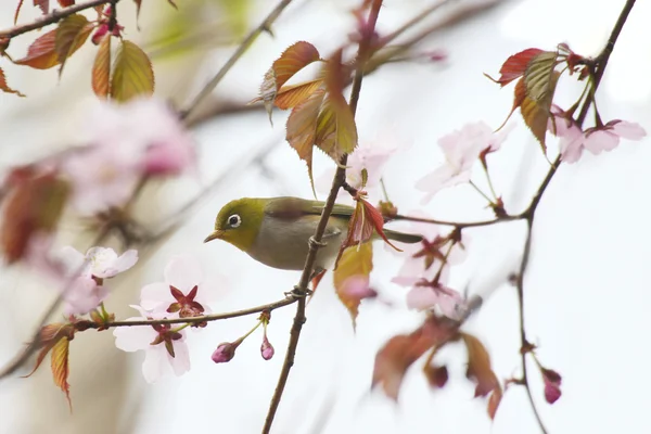
[[[204,243],[224,240],[255,260],[283,270],[302,270],[324,202],[298,197],[243,197],[226,204],[217,215],[215,230]],[[346,238],[355,208],[335,204],[317,252],[315,270],[328,269]],[[418,243],[421,235],[384,229],[390,240]]]

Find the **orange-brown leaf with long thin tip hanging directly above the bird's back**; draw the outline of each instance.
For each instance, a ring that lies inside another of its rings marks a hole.
[[[290,145],[296,150],[298,157],[307,164],[309,182],[314,191],[314,178],[311,170],[312,145],[317,133],[317,117],[323,102],[324,91],[319,89],[309,95],[301,104],[296,105],[286,126],[286,140]]]

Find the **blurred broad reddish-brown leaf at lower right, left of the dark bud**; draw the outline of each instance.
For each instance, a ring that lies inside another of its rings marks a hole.
[[[384,393],[397,400],[407,369],[429,348],[442,346],[456,334],[456,329],[439,323],[435,317],[429,317],[410,334],[392,337],[375,355],[372,387],[381,384]]]

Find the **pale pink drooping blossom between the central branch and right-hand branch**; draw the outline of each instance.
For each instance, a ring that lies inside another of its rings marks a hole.
[[[429,203],[445,188],[470,181],[472,166],[481,154],[499,150],[508,132],[509,129],[502,129],[495,133],[488,125],[478,122],[438,139],[447,162],[416,183],[417,189],[427,193],[422,203]]]

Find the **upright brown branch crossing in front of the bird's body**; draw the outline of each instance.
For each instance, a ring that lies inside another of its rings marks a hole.
[[[378,15],[380,14],[382,0],[374,0],[371,4],[371,10],[369,12],[369,36],[372,36],[374,34],[375,24],[378,22]],[[359,42],[359,49],[357,51],[357,67],[355,71],[355,77],[353,78],[353,88],[350,90],[350,111],[353,112],[353,116],[355,116],[355,113],[357,111],[357,103],[359,102],[365,64],[371,54],[370,39],[370,37],[362,38]],[[288,345],[288,352],[285,354],[285,359],[280,371],[280,376],[278,379],[276,391],[273,391],[273,396],[271,397],[271,403],[269,404],[269,411],[267,412],[267,418],[265,419],[263,434],[269,434],[269,432],[271,431],[273,418],[276,417],[276,412],[278,411],[278,406],[280,405],[284,387],[290,376],[290,370],[294,365],[294,357],[296,355],[296,348],[298,347],[301,330],[303,329],[303,324],[306,321],[305,298],[307,295],[307,284],[310,276],[312,275],[315,261],[317,259],[317,252],[322,245],[321,239],[323,237],[323,233],[326,232],[326,227],[328,226],[330,214],[332,214],[332,208],[334,207],[334,202],[336,201],[336,196],[341,187],[346,181],[347,161],[347,154],[344,154],[340,159],[336,173],[334,174],[334,178],[332,179],[330,194],[328,195],[328,200],[326,201],[326,205],[323,206],[323,210],[321,212],[321,219],[319,220],[319,225],[317,226],[317,230],[315,231],[314,237],[311,237],[309,240],[309,251],[305,259],[305,267],[303,268],[303,273],[301,275],[298,285],[295,288],[295,291],[302,297],[298,299],[298,306],[296,307],[296,316],[294,317],[294,322],[290,332],[290,343]]]

